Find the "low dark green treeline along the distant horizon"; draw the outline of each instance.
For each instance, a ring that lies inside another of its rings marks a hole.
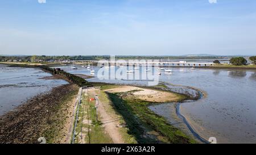
[[[199,58],[224,58],[220,56],[115,56],[117,59],[199,59]],[[48,61],[74,61],[74,60],[108,60],[110,56],[0,56],[0,61],[21,61],[21,62],[48,62]]]

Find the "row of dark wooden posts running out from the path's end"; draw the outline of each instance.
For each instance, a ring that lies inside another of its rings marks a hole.
[[[73,83],[76,83],[79,87],[93,87],[92,83],[86,81],[84,78],[81,78],[71,73],[64,72],[60,68],[49,68],[48,66],[39,66],[39,67],[45,70],[46,72],[50,72],[52,74],[57,74],[59,76],[67,78]]]

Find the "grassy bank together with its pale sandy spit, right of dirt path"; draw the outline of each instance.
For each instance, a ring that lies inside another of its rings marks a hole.
[[[94,83],[95,85],[95,83]],[[100,83],[100,85],[104,85]],[[130,89],[127,89],[129,87]],[[137,87],[138,89],[134,89]],[[108,85],[105,84],[104,91],[108,92],[109,98],[112,100],[117,111],[122,114],[126,119],[127,126],[136,137],[139,143],[199,143],[200,141],[192,138],[192,135],[185,134],[181,129],[175,127],[169,123],[166,118],[156,114],[148,106],[162,104],[168,102],[158,102],[156,98],[159,96],[156,94],[155,97],[151,93],[153,92],[167,92],[174,94],[178,98],[172,98],[172,102],[180,102],[187,99],[187,95],[175,93],[172,91],[164,91],[156,89],[155,87],[142,87],[142,86],[126,86],[126,85]],[[149,93],[148,95],[142,93]],[[135,96],[133,96],[134,94]],[[149,96],[148,99],[140,98],[140,95]],[[141,115],[141,114],[144,115]],[[133,123],[131,123],[133,122]],[[145,126],[144,126],[144,125]],[[142,126],[143,127],[142,127]],[[148,131],[154,132],[154,135],[147,133]],[[152,136],[156,136],[152,139]]]

